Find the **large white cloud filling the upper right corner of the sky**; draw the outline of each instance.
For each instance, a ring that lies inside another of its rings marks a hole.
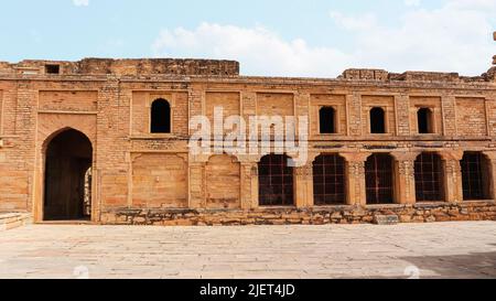
[[[354,57],[362,66],[478,75],[489,68],[494,55],[489,20],[495,13],[496,1],[451,0],[440,9],[411,10],[396,28],[377,24],[360,31],[334,21],[355,35]]]

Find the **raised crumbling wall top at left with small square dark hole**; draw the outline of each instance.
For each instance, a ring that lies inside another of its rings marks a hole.
[[[177,58],[84,58],[79,62],[26,60],[17,64],[0,62],[2,73],[26,75],[43,74],[88,74],[88,75],[204,75],[237,76],[239,63],[217,60],[177,60]]]

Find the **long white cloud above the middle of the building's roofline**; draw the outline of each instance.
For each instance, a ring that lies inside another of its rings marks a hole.
[[[311,47],[304,40],[284,41],[262,28],[203,23],[195,30],[163,30],[153,44],[157,56],[237,60],[247,75],[335,76],[349,56],[330,47]]]

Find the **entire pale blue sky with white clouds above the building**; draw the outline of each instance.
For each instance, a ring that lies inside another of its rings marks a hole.
[[[496,0],[17,0],[0,61],[184,57],[241,74],[335,77],[351,67],[479,75]]]

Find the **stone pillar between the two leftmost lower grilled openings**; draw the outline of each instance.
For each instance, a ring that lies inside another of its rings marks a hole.
[[[294,168],[294,197],[298,208],[313,206],[313,165]]]

